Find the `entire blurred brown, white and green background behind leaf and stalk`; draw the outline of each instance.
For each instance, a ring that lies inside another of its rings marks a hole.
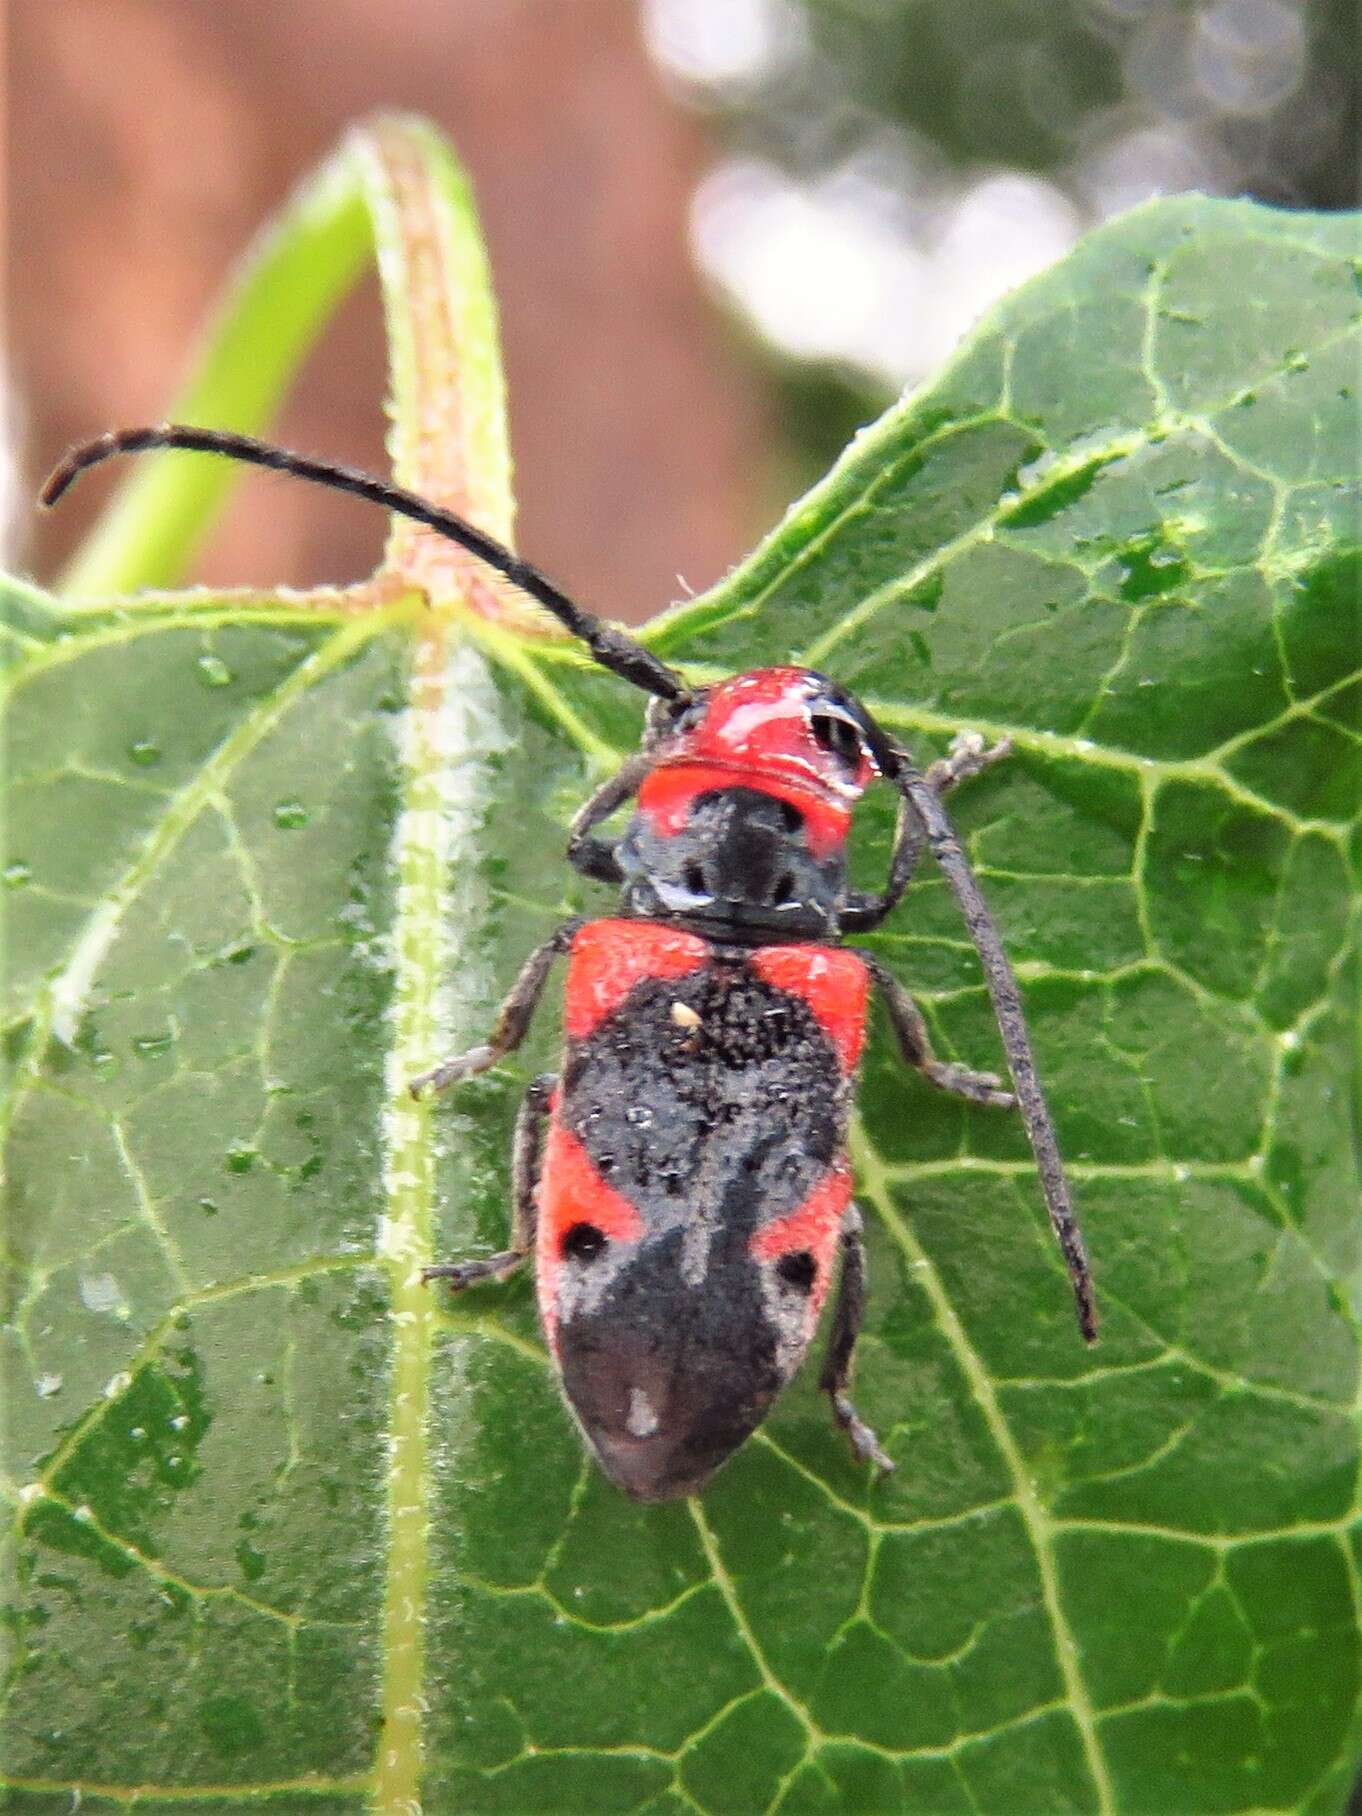
[[[4,516],[53,579],[254,229],[374,107],[454,140],[501,307],[519,543],[641,619],[1088,227],[1358,203],[1355,0],[11,0]],[[372,280],[280,436],[381,463]],[[381,521],[249,478],[198,567],[345,581]]]

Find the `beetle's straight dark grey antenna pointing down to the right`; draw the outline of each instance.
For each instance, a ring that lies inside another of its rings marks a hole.
[[[970,868],[961,841],[955,837],[955,828],[946,817],[941,797],[923,772],[897,746],[888,745],[888,739],[884,739],[884,755],[892,763],[888,770],[890,779],[923,823],[926,843],[946,873],[952,893],[964,915],[964,924],[970,930],[973,948],[979,953],[979,962],[984,968],[988,993],[993,999],[993,1015],[997,1017],[999,1033],[1008,1055],[1008,1070],[1017,1091],[1017,1104],[1026,1124],[1031,1151],[1035,1153],[1035,1168],[1041,1175],[1041,1189],[1050,1211],[1050,1228],[1055,1231],[1055,1240],[1064,1255],[1064,1266],[1073,1284],[1079,1329],[1086,1342],[1097,1342],[1097,1302],[1093,1277],[1088,1268],[1088,1251],[1082,1244],[1079,1219],[1073,1215],[1070,1182],[1064,1175],[1064,1162],[1059,1157],[1059,1142],[1055,1140],[1055,1124],[1035,1071],[1035,1055],[1031,1053],[1031,1039],[1026,1033],[1017,977],[1008,962],[997,923],[984,903],[979,881]]]

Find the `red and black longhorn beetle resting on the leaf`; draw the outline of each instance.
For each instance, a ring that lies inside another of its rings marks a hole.
[[[358,494],[470,550],[650,694],[637,755],[572,821],[568,861],[621,890],[607,921],[568,921],[530,955],[492,1033],[412,1081],[443,1090],[519,1046],[556,957],[567,957],[567,1053],[530,1084],[512,1151],[510,1248],[427,1268],[456,1291],[534,1253],[539,1315],[567,1400],[605,1471],[639,1500],[692,1495],[765,1418],[799,1367],[841,1277],[821,1386],[855,1455],[893,1464],[848,1397],[864,1302],[846,1126],[868,993],[881,992],[906,1064],[977,1104],[1017,1106],[1050,1222],[1097,1337],[1082,1237],[1035,1075],[1017,982],[941,795],[1004,754],[959,741],[923,774],[866,708],[808,668],[688,686],[617,625],[567,597],[501,543],[401,487],[249,436],[123,429],[73,450],[53,505],[111,454],[196,449]],[[852,808],[875,779],[899,792],[884,888],[852,890]],[[627,801],[612,841],[596,828]],[[1015,1095],[932,1053],[912,997],[843,946],[895,908],[926,844],[979,952]]]

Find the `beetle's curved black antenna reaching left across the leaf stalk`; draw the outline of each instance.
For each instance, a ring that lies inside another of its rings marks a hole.
[[[449,538],[478,556],[521,592],[527,592],[547,612],[552,612],[559,625],[565,625],[574,637],[581,637],[587,648],[603,668],[610,668],[625,681],[657,694],[661,699],[685,701],[690,690],[676,670],[661,663],[641,643],[636,643],[617,625],[607,625],[592,612],[583,610],[547,574],[541,574],[530,561],[512,554],[503,543],[476,528],[465,518],[439,505],[429,503],[416,492],[389,479],[376,479],[354,467],[336,467],[331,461],[309,459],[305,454],[291,454],[271,441],[258,441],[254,436],[238,436],[227,429],[191,429],[183,423],[158,423],[151,429],[114,429],[107,436],[85,441],[71,449],[65,459],[49,474],[42,489],[42,503],[51,507],[80,478],[87,467],[114,454],[140,454],[143,449],[189,449],[198,454],[222,454],[227,459],[247,461],[252,467],[272,467],[276,472],[292,474],[298,479],[311,479],[314,485],[329,485],[336,492],[352,492],[367,498],[372,505],[400,518],[423,523],[438,536]]]

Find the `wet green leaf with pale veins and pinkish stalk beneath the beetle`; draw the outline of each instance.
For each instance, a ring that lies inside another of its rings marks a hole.
[[[396,449],[458,498],[503,447],[490,307],[445,154],[383,131]],[[563,826],[637,699],[419,541],[312,601],[15,590],[16,1811],[1342,1809],[1358,251],[1200,200],[1099,231],[656,628],[697,674],[817,661],[924,755],[1015,743],[953,812],[1102,1344],[1017,1128],[881,1030],[881,1484],[810,1369],[703,1502],[636,1507],[528,1282],[416,1284],[501,1246],[556,1013],[439,1104],[405,1079],[607,904]],[[937,877],[875,944],[997,1062]]]

